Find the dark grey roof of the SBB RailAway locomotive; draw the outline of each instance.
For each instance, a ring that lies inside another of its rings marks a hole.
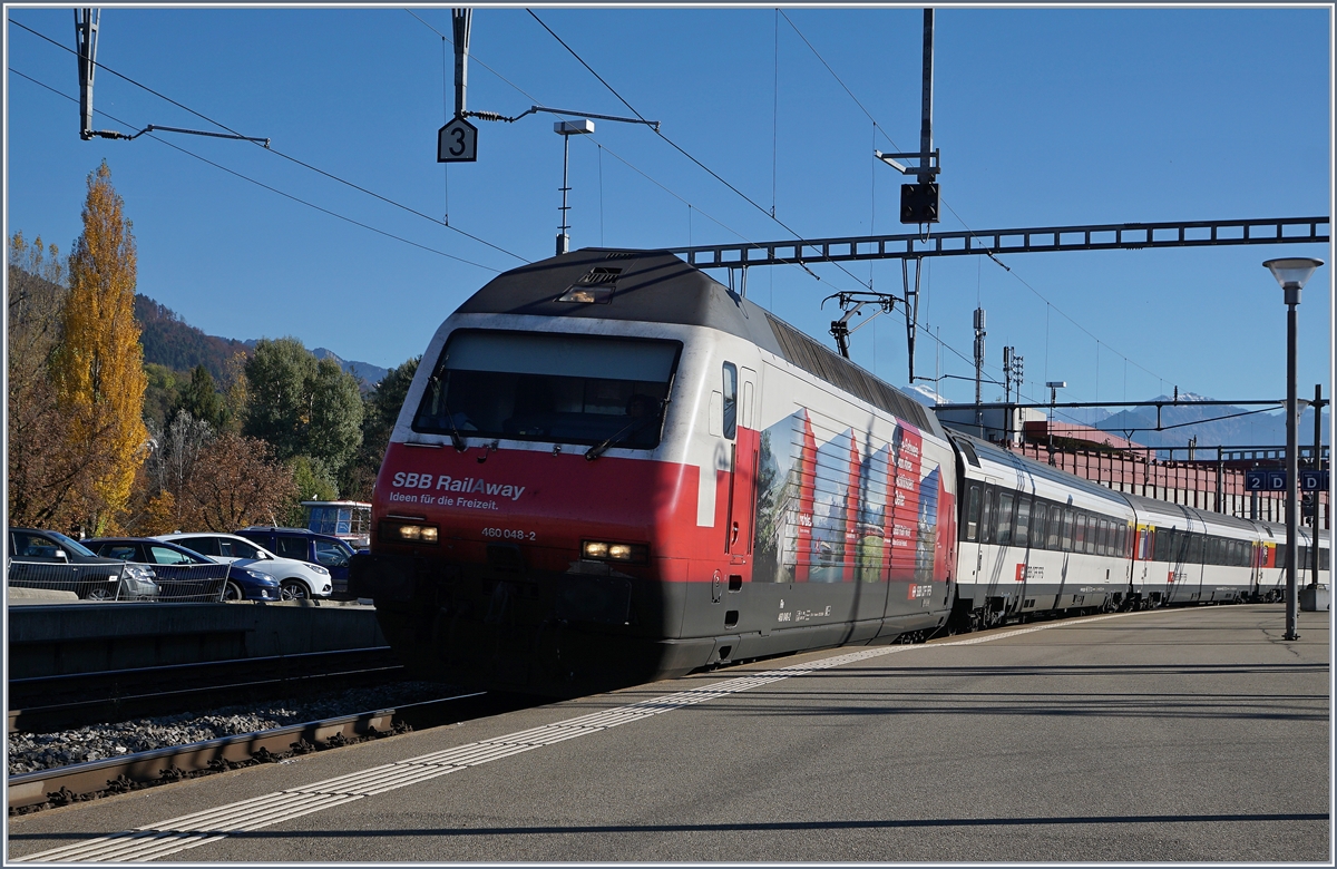
[[[578,289],[611,290],[611,297],[603,303],[558,301],[568,290]],[[919,401],[666,251],[584,247],[541,259],[499,274],[457,313],[628,320],[718,329],[789,360],[921,430],[945,437],[937,417]]]

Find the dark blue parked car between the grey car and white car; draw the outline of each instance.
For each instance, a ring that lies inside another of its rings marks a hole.
[[[108,559],[152,566],[159,600],[279,600],[278,580],[239,564],[215,562],[167,540],[96,537],[84,545]],[[210,570],[214,568],[214,570]]]

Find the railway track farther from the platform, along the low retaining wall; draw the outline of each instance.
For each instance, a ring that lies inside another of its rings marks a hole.
[[[388,646],[9,679],[8,733],[45,733],[405,678]]]

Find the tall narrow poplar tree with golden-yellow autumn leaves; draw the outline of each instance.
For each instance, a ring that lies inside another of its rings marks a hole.
[[[119,529],[148,451],[143,346],[135,322],[135,237],[103,162],[88,175],[83,234],[68,263],[62,341],[51,362],[72,460],[90,483],[83,523]]]

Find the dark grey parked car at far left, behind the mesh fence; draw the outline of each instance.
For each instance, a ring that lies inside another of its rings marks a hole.
[[[87,600],[152,600],[151,567],[94,553],[59,531],[9,529],[9,584],[72,591]]]

